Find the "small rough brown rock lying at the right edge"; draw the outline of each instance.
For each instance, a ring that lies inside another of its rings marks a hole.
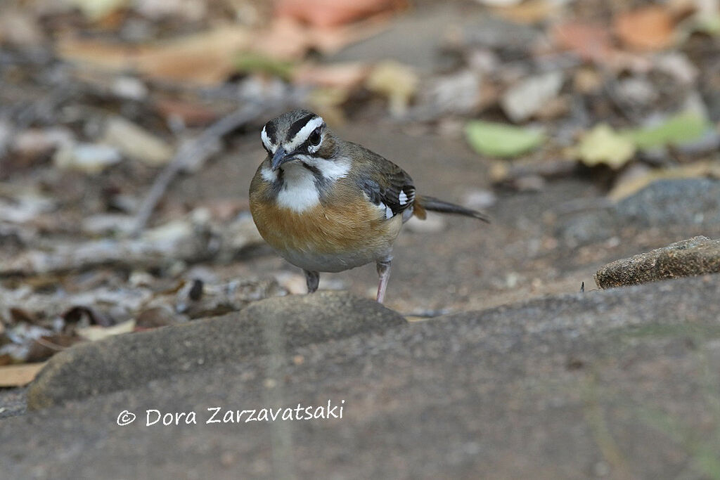
[[[610,289],[705,273],[720,273],[720,240],[693,237],[609,263],[595,273],[595,283]]]

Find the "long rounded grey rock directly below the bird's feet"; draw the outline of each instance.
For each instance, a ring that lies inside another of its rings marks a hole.
[[[28,407],[137,388],[215,363],[404,324],[400,314],[346,293],[266,299],[225,317],[68,348],[54,356],[30,386]]]

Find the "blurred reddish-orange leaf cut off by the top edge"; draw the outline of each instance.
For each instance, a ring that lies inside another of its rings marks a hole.
[[[279,0],[275,12],[316,27],[334,27],[405,6],[405,0]]]

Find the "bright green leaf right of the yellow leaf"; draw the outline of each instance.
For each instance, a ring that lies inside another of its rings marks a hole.
[[[641,150],[683,145],[698,140],[708,130],[709,124],[700,114],[685,112],[670,117],[655,127],[627,130],[627,135]]]

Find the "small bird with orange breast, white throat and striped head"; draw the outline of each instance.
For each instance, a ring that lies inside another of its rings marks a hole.
[[[250,211],[260,235],[305,271],[308,293],[319,272],[377,263],[377,301],[390,278],[392,243],[400,227],[426,210],[488,222],[480,212],[415,194],[399,166],[328,130],[323,118],[293,110],[261,132],[268,155],[250,184]]]

